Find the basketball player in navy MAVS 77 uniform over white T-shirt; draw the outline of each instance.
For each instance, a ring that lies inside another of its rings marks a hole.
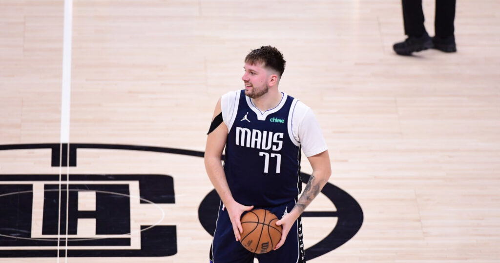
[[[285,60],[272,46],[245,58],[244,89],[221,96],[215,106],[205,149],[205,168],[221,198],[210,262],[305,262],[300,214],[330,176],[326,143],[311,109],[278,90]],[[224,166],[221,155],[225,147]],[[300,149],[312,175],[304,191]],[[282,225],[273,250],[253,254],[241,239],[240,218],[252,208],[274,213]]]

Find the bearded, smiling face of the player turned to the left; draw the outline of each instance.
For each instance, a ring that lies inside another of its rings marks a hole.
[[[245,63],[243,66],[245,73],[241,79],[245,83],[245,95],[251,98],[258,98],[267,93],[269,89],[267,85],[269,76],[263,65],[264,63],[257,63],[254,65]]]

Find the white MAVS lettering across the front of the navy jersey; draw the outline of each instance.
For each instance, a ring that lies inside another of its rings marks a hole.
[[[283,132],[236,127],[235,138],[236,145],[248,148],[278,151],[283,146]]]

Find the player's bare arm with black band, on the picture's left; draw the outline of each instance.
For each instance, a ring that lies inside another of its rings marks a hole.
[[[217,101],[217,105],[215,105],[215,110],[213,111],[212,121],[220,112],[221,107],[219,99]],[[253,205],[245,206],[236,202],[232,197],[229,186],[227,185],[221,159],[222,151],[227,139],[227,133],[227,125],[224,122],[220,123],[212,132],[208,133],[206,138],[204,160],[208,178],[210,178],[211,183],[215,187],[220,199],[222,199],[222,203],[227,209],[229,219],[232,223],[234,237],[237,241],[241,238],[241,233],[243,232],[240,222],[241,214],[244,211],[251,210]]]

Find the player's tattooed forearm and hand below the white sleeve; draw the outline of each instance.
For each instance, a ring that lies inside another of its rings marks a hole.
[[[274,246],[274,250],[278,249],[283,245],[288,231],[290,231],[291,226],[295,220],[302,214],[305,207],[318,195],[323,186],[328,182],[331,174],[330,167],[330,157],[328,155],[328,150],[318,153],[313,156],[307,157],[312,167],[312,174],[309,181],[305,185],[304,191],[300,198],[298,198],[297,203],[293,206],[293,209],[287,214],[285,214],[280,220],[276,222],[277,225],[282,225],[283,229],[281,232],[281,239]]]

